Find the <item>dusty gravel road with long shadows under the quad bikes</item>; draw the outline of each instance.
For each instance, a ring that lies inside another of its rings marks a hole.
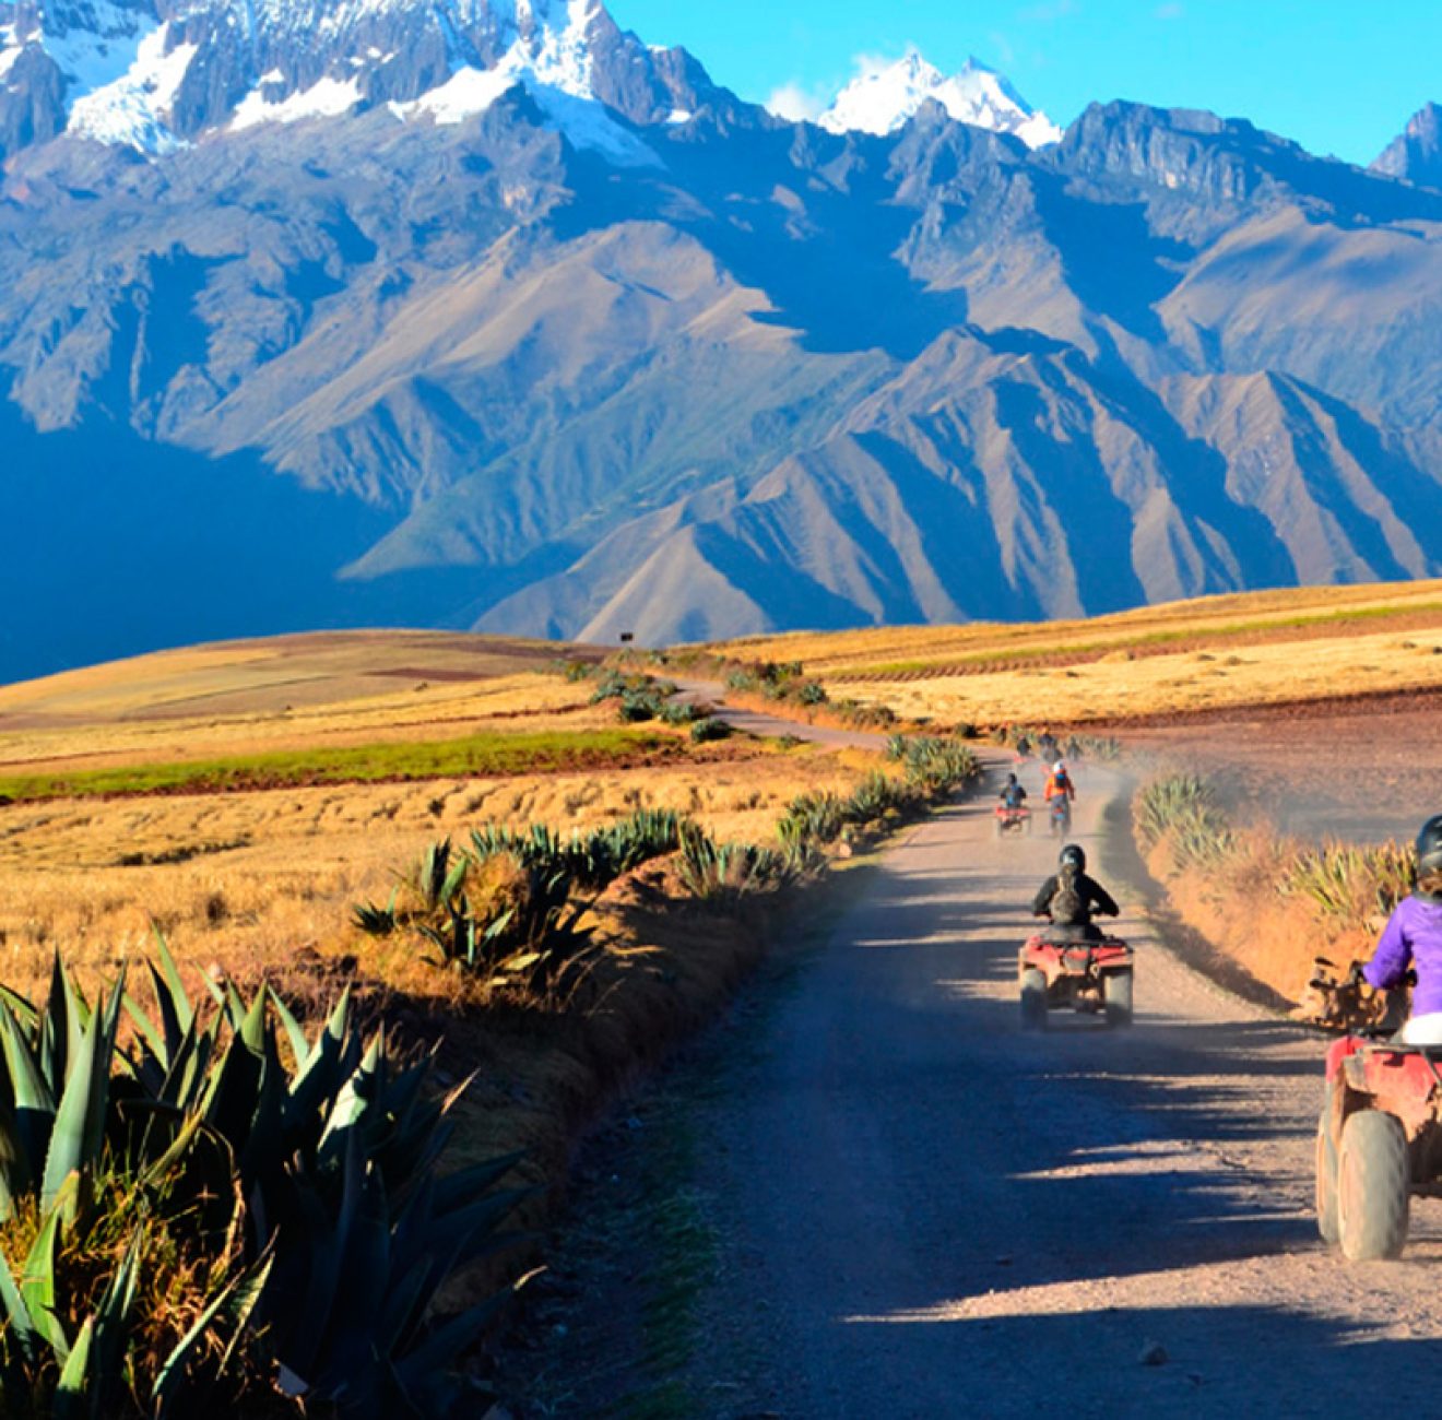
[[[1113,885],[1122,787],[1084,770],[1071,835]],[[1322,1247],[1322,1038],[1195,975],[1135,908],[1135,1026],[1019,1031],[1056,848],[1040,822],[996,842],[985,796],[911,832],[704,1106],[705,1413],[1435,1413],[1442,1204],[1415,1207],[1402,1261]]]

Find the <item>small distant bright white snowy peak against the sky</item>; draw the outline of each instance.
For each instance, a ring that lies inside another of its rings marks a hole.
[[[1061,137],[995,69],[968,59],[960,72],[945,75],[916,49],[894,63],[862,62],[819,123],[832,133],[894,133],[929,99],[959,123],[1015,134],[1034,148]]]

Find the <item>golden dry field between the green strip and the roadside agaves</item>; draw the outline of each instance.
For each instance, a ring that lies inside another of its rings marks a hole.
[[[435,839],[499,820],[591,827],[681,809],[722,838],[770,840],[805,790],[846,790],[855,755],[764,747],[665,768],[14,804],[0,812],[0,980],[36,985],[55,946],[79,969],[143,951],[150,923],[177,954],[251,977],[298,949],[369,950],[352,904],[385,901]]]

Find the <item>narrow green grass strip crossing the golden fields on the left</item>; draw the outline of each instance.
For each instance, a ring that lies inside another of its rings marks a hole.
[[[678,754],[681,748],[681,741],[675,737],[624,728],[486,734],[463,740],[275,751],[63,774],[22,774],[0,778],[0,803],[536,774],[603,768],[643,757]]]

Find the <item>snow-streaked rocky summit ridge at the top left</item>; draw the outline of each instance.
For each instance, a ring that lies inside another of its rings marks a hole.
[[[653,163],[616,112],[665,123],[695,107],[704,79],[623,35],[603,0],[49,0],[33,12],[0,0],[7,17],[0,86],[25,66],[42,74],[27,84],[45,112],[0,112],[0,154],[12,127],[164,153],[373,108],[459,123],[523,86],[577,147]]]

